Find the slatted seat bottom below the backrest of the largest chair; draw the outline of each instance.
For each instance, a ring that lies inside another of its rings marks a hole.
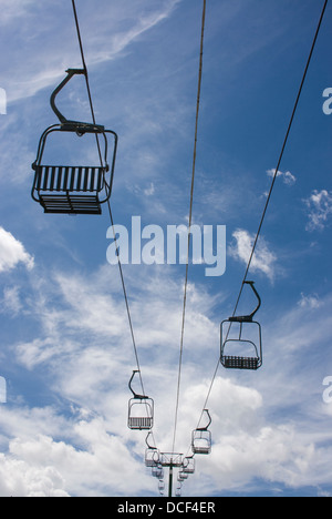
[[[82,195],[40,195],[45,213],[52,214],[102,214],[97,196]]]

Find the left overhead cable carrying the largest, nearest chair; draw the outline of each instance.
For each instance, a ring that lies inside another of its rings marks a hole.
[[[73,6],[73,12],[74,12],[74,19],[75,19],[75,26],[76,26],[76,31],[77,31],[77,39],[79,39],[79,44],[80,44],[80,51],[81,51],[83,69],[84,69],[84,72],[85,72],[84,75],[85,75],[85,82],[86,82],[86,89],[87,89],[87,95],[89,95],[89,102],[90,102],[92,120],[93,120],[93,124],[96,124],[95,112],[94,112],[94,106],[93,106],[93,101],[92,101],[92,93],[91,93],[91,88],[90,88],[89,73],[87,73],[87,67],[86,67],[86,61],[85,61],[85,54],[84,54],[84,49],[83,49],[82,34],[81,34],[81,29],[80,29],[80,22],[79,22],[75,0],[72,0],[72,6]],[[102,165],[102,167],[104,167],[104,161],[103,161],[100,139],[98,139],[97,133],[95,134],[95,138],[96,138],[96,144],[97,144],[97,149],[98,149],[101,165]],[[111,186],[108,186],[108,189],[111,189]],[[110,200],[107,200],[107,204],[108,204],[111,224],[112,224],[113,233],[114,233],[114,242],[115,242],[117,256],[118,256],[118,269],[120,269],[122,288],[123,288],[123,293],[124,293],[126,312],[127,312],[127,317],[128,317],[128,323],[129,323],[129,329],[131,329],[131,336],[132,336],[132,342],[133,342],[133,347],[134,347],[134,354],[135,354],[137,370],[138,370],[138,374],[139,374],[142,391],[143,391],[143,395],[145,395],[144,385],[143,385],[143,377],[142,377],[142,373],[141,373],[141,365],[139,365],[139,359],[138,359],[137,345],[136,345],[136,339],[135,339],[135,335],[134,335],[133,320],[132,320],[129,303],[128,303],[128,297],[127,297],[127,291],[126,291],[126,286],[125,286],[124,275],[123,275],[122,263],[121,263],[120,255],[118,255],[118,247],[117,247],[116,235],[115,235],[115,231],[114,231],[114,221],[113,221],[113,214],[112,214],[112,210],[111,210]]]

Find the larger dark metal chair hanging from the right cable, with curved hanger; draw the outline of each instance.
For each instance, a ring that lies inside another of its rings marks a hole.
[[[227,369],[257,370],[262,365],[262,338],[261,326],[253,317],[261,306],[261,298],[253,282],[245,284],[252,288],[258,306],[250,315],[230,317],[221,323],[220,362]],[[236,334],[230,336],[234,327]]]

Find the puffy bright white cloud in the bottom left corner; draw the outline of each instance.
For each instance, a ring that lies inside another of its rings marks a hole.
[[[137,477],[142,461],[106,431],[103,419],[69,420],[66,427],[71,441],[45,434],[10,440],[8,452],[0,454],[2,497],[108,497],[152,487],[144,471]]]

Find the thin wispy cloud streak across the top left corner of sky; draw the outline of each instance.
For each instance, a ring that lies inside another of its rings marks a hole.
[[[137,4],[133,10],[133,4],[128,6],[126,1],[114,8],[110,2],[103,0],[95,6],[93,14],[89,2],[80,2],[79,14],[82,14],[82,33],[84,34],[89,67],[122,55],[137,38],[167,19],[180,1],[164,0],[157,7],[155,2],[148,1],[147,6]],[[2,11],[2,3],[4,11]],[[4,16],[4,26],[8,33],[18,33],[18,38],[22,38],[20,68],[12,70],[11,67],[9,70],[7,59],[2,55],[3,63],[1,63],[0,59],[9,102],[27,99],[35,95],[44,88],[55,86],[56,81],[64,75],[65,69],[79,67],[80,53],[74,32],[74,20],[69,4],[54,6],[52,31],[48,32],[46,39],[43,37],[43,27],[50,24],[49,8],[44,9],[43,4],[41,6],[32,0],[2,0],[0,7],[1,19],[3,21]],[[89,16],[86,16],[87,10]],[[22,17],[28,17],[31,22],[34,22],[35,31],[33,37],[28,38],[25,34],[25,23],[21,23]],[[92,27],[97,27],[98,30],[92,32]],[[18,31],[18,28],[20,28],[20,31]],[[59,40],[60,29],[61,33],[65,34],[62,40]],[[42,47],[38,43],[40,38],[44,39]],[[6,40],[6,54],[11,57],[11,63],[15,59],[13,54],[15,44],[13,43],[17,44],[18,42],[8,37]],[[22,49],[27,59],[22,59]]]

